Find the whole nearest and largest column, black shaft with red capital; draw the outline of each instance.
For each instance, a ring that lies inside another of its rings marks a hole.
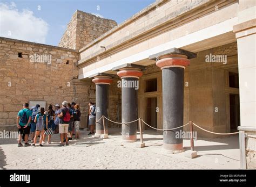
[[[190,65],[188,58],[192,57],[196,57],[196,54],[177,48],[150,56],[150,59],[157,60],[156,65],[162,70],[164,129],[184,125],[184,69]],[[183,152],[182,136],[176,136],[176,132],[180,133],[180,130],[183,127],[164,131],[164,149],[173,153]]]

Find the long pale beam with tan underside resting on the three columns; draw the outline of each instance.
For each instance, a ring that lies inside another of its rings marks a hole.
[[[156,63],[155,60],[150,59],[151,55],[163,53],[164,51],[170,50],[171,48],[179,48],[189,52],[197,53],[213,47],[230,44],[237,41],[235,38],[235,33],[233,32],[233,25],[235,25],[237,22],[238,17],[234,17],[221,23],[203,28],[197,32],[184,35],[183,37],[174,39],[172,41],[168,41],[165,44],[149,48],[143,52],[111,62],[105,66],[94,68],[93,70],[86,71],[86,69],[83,69],[86,67],[82,67],[81,69],[83,73],[79,74],[78,78],[82,80],[96,73],[116,74],[116,71],[113,71],[112,68],[126,63],[150,66],[151,64]],[[89,64],[89,66],[90,65],[91,64]]]

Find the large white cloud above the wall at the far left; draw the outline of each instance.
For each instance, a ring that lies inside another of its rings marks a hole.
[[[19,11],[16,4],[0,3],[0,36],[45,44],[48,23],[27,9]]]

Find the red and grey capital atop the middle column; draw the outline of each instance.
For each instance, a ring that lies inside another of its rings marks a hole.
[[[145,66],[137,64],[126,63],[117,67],[112,68],[113,71],[118,71],[117,75],[120,78],[134,77],[139,78],[143,75],[142,70],[145,70]]]

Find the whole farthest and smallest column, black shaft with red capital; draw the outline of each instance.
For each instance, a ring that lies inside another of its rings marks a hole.
[[[92,82],[96,84],[96,121],[98,121],[102,116],[109,117],[109,89],[112,83],[112,75],[97,73],[95,75],[89,76],[92,78]],[[105,120],[105,133],[109,133],[108,120]],[[103,119],[96,123],[96,133],[95,136],[100,136],[104,133]]]

